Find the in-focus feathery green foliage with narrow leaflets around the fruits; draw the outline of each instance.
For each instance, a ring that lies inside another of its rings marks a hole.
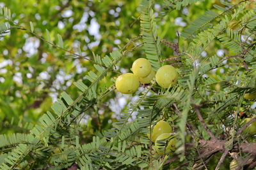
[[[216,153],[227,151],[234,153],[241,160],[248,160],[244,163],[244,168],[253,165],[250,160],[255,160],[255,151],[248,152],[242,146],[255,147],[255,134],[237,133],[241,127],[243,129],[243,118],[255,117],[256,114],[252,101],[244,99],[244,94],[256,91],[256,11],[252,8],[252,5],[256,5],[255,1],[236,4],[233,4],[233,1],[223,1],[219,5],[214,4],[216,9],[205,10],[205,14],[201,16],[198,14],[193,24],[185,29],[179,27],[182,37],[175,37],[178,43],[170,42],[170,46],[166,47],[161,46],[163,42],[159,38],[159,32],[168,32],[166,22],[173,19],[169,18],[169,14],[175,15],[175,8],[180,11],[192,8],[194,4],[197,6],[209,2],[184,0],[157,3],[160,7],[164,6],[164,9],[157,10],[157,4],[153,0],[141,1],[138,5],[140,24],[136,20],[132,23],[139,25],[141,34],[136,34],[137,37],[129,40],[123,47],[111,46],[111,52],[104,57],[95,54],[89,45],[77,45],[77,52],[67,50],[70,45],[65,38],[68,32],[52,34],[45,29],[47,38],[44,39],[40,36],[42,32],[38,31],[36,22],[30,21],[27,29],[26,26],[14,22],[12,17],[15,15],[12,15],[8,8],[0,9],[1,19],[4,20],[0,23],[0,36],[3,36],[3,39],[7,37],[6,33],[10,29],[13,29],[13,32],[25,31],[40,41],[38,50],[47,43],[51,49],[63,51],[61,57],[63,55],[67,60],[86,59],[92,64],[85,76],[77,75],[79,80],[70,87],[72,92],[68,89],[60,90],[60,97],[52,106],[46,107],[44,115],[33,128],[28,128],[28,133],[0,135],[1,170],[71,167],[86,170],[179,169],[183,166],[190,169],[207,169],[209,164],[217,166],[216,160],[222,164]],[[99,7],[92,8],[101,8],[104,2],[95,4]],[[116,8],[116,11],[118,9]],[[168,10],[170,13],[166,12]],[[102,14],[102,18],[107,18],[105,15],[106,13]],[[90,13],[90,16],[94,16],[94,13]],[[163,35],[168,37],[168,34]],[[140,48],[141,44],[143,48]],[[214,51],[216,46],[221,50]],[[83,50],[88,48],[92,50],[92,57],[84,56]],[[120,95],[114,93],[113,82],[116,75],[124,72],[120,69],[120,66],[123,66],[120,61],[122,63],[129,60],[137,50],[140,54],[145,54],[155,71],[172,62],[179,78],[169,89],[159,87],[156,78],[147,85],[141,85],[136,97],[118,111],[116,118],[111,118],[115,114],[109,108],[115,104],[111,103],[110,99],[115,101]],[[166,53],[173,51],[177,56],[165,57]],[[223,54],[220,55],[220,52]],[[38,60],[43,62],[44,56],[45,54]],[[163,58],[166,59],[162,60]],[[31,60],[34,60],[33,57]],[[71,66],[67,67],[70,69]],[[74,71],[73,69],[70,70]],[[109,75],[114,78],[107,79]],[[4,95],[6,94],[8,92],[4,92]],[[20,96],[24,97],[24,94]],[[109,97],[107,102],[106,97]],[[0,102],[2,101],[4,100],[0,97]],[[29,108],[36,107],[35,105],[31,104]],[[4,113],[12,113],[12,106],[5,106],[1,104]],[[110,114],[104,115],[107,113]],[[86,119],[88,115],[92,117],[90,120]],[[96,117],[93,117],[94,115]],[[173,129],[172,137],[159,141],[160,146],[163,146],[160,149],[164,152],[163,155],[157,150],[156,143],[149,139],[159,120],[165,120]],[[83,121],[86,124],[83,125]],[[11,124],[26,128],[26,125],[20,122]],[[177,139],[175,152],[165,153],[172,138]],[[224,157],[223,168],[229,164],[228,159]]]

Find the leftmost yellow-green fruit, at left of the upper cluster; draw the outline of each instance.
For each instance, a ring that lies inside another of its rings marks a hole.
[[[122,74],[116,79],[116,89],[123,94],[132,94],[139,86],[139,78],[132,73]]]

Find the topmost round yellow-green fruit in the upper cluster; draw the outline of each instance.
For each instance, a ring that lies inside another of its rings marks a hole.
[[[132,72],[138,77],[148,76],[152,67],[147,59],[140,58],[132,63]]]

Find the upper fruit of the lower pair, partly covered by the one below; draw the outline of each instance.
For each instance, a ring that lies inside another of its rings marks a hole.
[[[167,122],[160,120],[153,128],[151,134],[152,141],[155,142],[156,138],[163,133],[172,133],[172,127]]]

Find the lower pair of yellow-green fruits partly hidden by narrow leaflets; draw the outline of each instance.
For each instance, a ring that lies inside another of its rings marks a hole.
[[[172,127],[165,121],[160,120],[154,126],[151,133],[151,140],[155,145],[152,147],[159,155],[175,151],[177,139],[172,134]],[[150,134],[147,134],[150,139]],[[163,145],[165,144],[165,145]]]

